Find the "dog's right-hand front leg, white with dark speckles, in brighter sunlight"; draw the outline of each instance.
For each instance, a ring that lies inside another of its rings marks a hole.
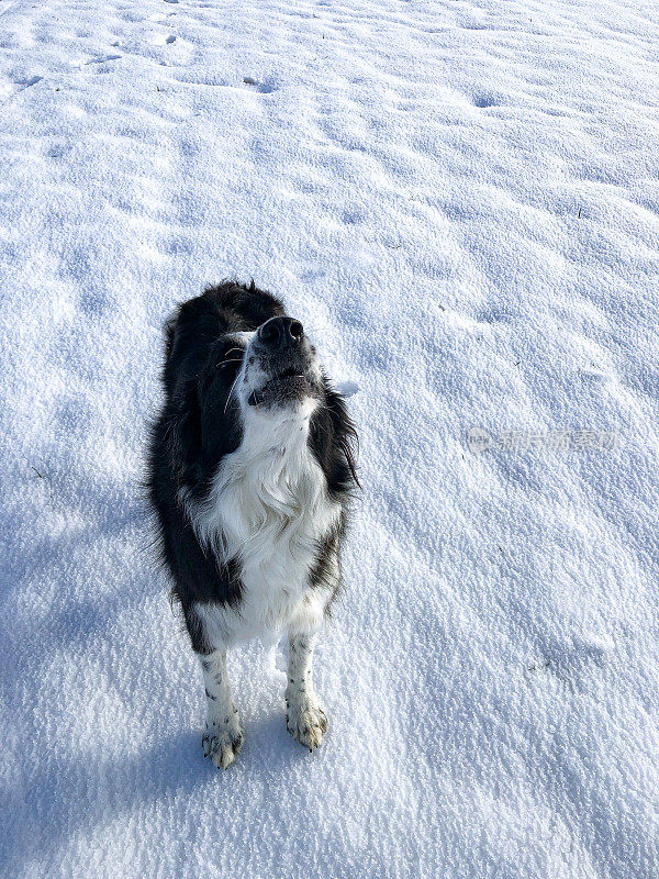
[[[327,717],[313,689],[311,664],[315,641],[315,634],[289,633],[286,722],[289,733],[310,750],[317,748],[327,730]]]

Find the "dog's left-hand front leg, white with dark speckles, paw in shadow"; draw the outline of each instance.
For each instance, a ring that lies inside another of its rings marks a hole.
[[[208,708],[203,753],[217,769],[226,769],[243,744],[238,710],[233,703],[226,675],[226,650],[215,650],[200,659]]]

